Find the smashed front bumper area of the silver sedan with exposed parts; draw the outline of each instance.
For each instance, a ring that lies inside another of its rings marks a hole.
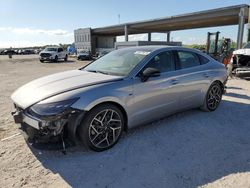
[[[20,128],[27,138],[36,142],[54,141],[59,136],[76,141],[76,129],[84,116],[84,111],[76,109],[68,109],[54,116],[39,116],[29,110],[15,108],[15,112],[12,112],[15,123],[21,124]]]

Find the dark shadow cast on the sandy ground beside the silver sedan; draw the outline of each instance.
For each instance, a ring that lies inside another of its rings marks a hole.
[[[249,105],[224,100],[215,112],[191,110],[134,128],[101,153],[31,150],[72,187],[196,187],[250,172],[248,114]]]

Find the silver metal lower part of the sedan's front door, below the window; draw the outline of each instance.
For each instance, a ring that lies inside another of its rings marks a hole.
[[[179,103],[179,83],[171,74],[150,78],[141,82],[134,80],[134,124],[151,121],[174,113]]]

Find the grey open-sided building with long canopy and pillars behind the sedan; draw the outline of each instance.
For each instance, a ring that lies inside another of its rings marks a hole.
[[[121,44],[119,42],[118,46],[120,47],[134,44],[139,45],[139,43],[129,42],[128,36],[130,34],[142,33],[148,34],[147,45],[155,44],[154,41],[151,41],[151,33],[166,33],[167,41],[162,42],[168,45],[178,45],[180,43],[170,41],[171,32],[195,28],[238,25],[237,49],[239,49],[242,47],[245,24],[250,22],[249,11],[249,5],[243,4],[108,27],[77,29],[74,31],[75,46],[77,51],[88,50],[92,54],[95,54],[96,52],[115,49],[117,46],[115,45],[117,36],[125,36],[125,43]],[[248,28],[248,32],[249,41],[250,27]]]

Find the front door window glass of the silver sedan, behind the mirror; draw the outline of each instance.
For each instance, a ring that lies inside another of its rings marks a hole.
[[[161,73],[174,71],[175,70],[175,62],[173,58],[173,54],[171,51],[162,52],[158,55],[154,56],[144,69],[152,67],[158,69]]]

